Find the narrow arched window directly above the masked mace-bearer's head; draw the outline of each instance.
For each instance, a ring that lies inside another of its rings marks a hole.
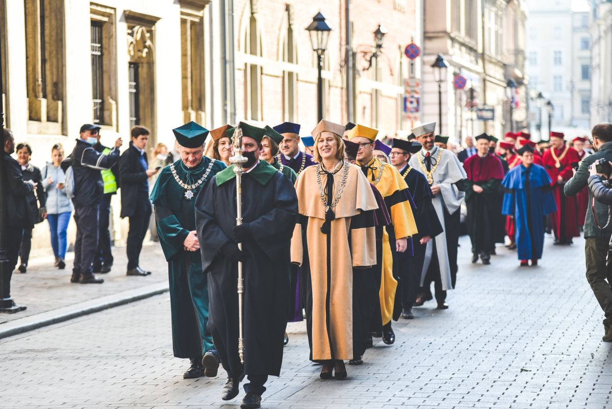
[[[255,13],[250,12],[244,36],[245,54],[261,57],[261,35]],[[245,118],[262,121],[261,108],[261,66],[247,59],[244,66],[245,75]]]

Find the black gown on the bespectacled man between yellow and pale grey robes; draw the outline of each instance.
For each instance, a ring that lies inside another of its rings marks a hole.
[[[401,296],[403,309],[409,309],[414,305],[419,293],[421,271],[425,263],[427,244],[420,244],[420,239],[425,236],[433,239],[443,230],[436,209],[431,203],[433,195],[431,195],[431,188],[425,175],[412,168],[408,169],[408,165],[400,173],[416,205],[414,220],[419,230],[417,235],[412,236],[414,256],[410,257],[406,253],[400,253],[401,293],[398,293],[395,298]]]

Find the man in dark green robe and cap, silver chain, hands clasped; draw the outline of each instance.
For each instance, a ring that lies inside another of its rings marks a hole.
[[[183,378],[215,377],[219,356],[207,330],[208,279],[198,251],[194,209],[204,184],[225,164],[204,156],[209,134],[204,127],[189,122],[173,132],[180,157],[160,171],[151,191],[157,236],[168,261],[173,352],[190,360]]]

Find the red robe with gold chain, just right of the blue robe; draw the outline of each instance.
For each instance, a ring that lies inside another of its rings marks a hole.
[[[559,159],[559,167],[556,167],[556,160],[551,154],[551,149],[544,152],[542,162],[551,179],[553,188],[554,201],[557,204],[557,212],[551,214],[551,227],[554,231],[554,237],[559,241],[569,241],[572,237],[580,236],[580,228],[578,227],[578,203],[576,197],[566,197],[563,193],[565,182],[569,181],[573,176],[573,167],[578,166],[580,158],[578,152],[569,146],[561,149],[555,149],[556,157]],[[567,152],[563,156],[565,149]],[[562,180],[558,181],[558,176]]]

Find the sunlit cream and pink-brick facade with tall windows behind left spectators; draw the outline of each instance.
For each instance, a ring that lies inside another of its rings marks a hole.
[[[55,143],[69,154],[87,122],[102,127],[107,146],[122,137],[123,149],[135,124],[151,129],[149,148],[171,149],[171,129],[191,120],[207,129],[293,121],[308,135],[318,122],[318,70],[305,28],[319,11],[332,28],[324,118],[408,133],[403,48],[422,41],[422,0],[1,0],[6,126],[40,166]],[[379,24],[386,34],[377,48]],[[113,214],[123,242],[118,198]],[[34,236],[34,249],[48,250],[46,225]]]

